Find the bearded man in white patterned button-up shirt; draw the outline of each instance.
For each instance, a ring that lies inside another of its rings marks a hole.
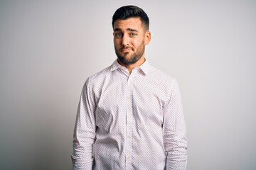
[[[82,89],[74,169],[186,169],[186,128],[175,79],[144,57],[149,18],[123,6],[112,18],[117,60]]]

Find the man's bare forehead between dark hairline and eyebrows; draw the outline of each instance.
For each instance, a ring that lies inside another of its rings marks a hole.
[[[114,21],[114,29],[119,28],[121,30],[127,30],[127,28],[132,29],[143,29],[142,21],[139,17],[127,18],[125,20],[118,19]]]

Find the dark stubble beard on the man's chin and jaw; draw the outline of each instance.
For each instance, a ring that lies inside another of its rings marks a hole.
[[[128,55],[130,55],[128,52],[124,53],[124,55],[121,55],[119,50],[115,46],[114,46],[114,50],[115,50],[117,58],[120,60],[120,62],[129,65],[129,64],[136,63],[142,57],[142,55],[144,54],[144,51],[145,51],[145,45],[144,45],[144,42],[142,42],[142,44],[139,45],[137,52],[133,52],[133,54],[131,54],[130,57],[128,56]],[[133,48],[132,48],[132,50],[133,50]]]

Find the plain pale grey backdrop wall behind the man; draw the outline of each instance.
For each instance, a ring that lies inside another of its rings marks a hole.
[[[0,169],[72,169],[82,86],[116,59],[112,15],[129,4],[150,19],[146,59],[178,80],[187,169],[256,169],[256,1],[249,0],[1,0]]]

